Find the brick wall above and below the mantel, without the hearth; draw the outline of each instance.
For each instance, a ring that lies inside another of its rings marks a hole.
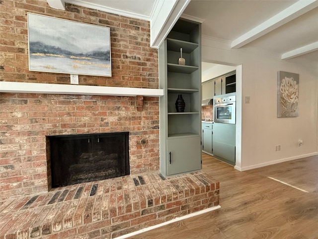
[[[110,27],[112,77],[79,76],[79,85],[158,89],[148,21],[45,0],[0,1],[0,81],[70,84],[67,74],[28,71],[27,12]],[[48,190],[46,135],[118,131],[130,131],[132,174],[159,170],[157,97],[1,93],[0,198]]]

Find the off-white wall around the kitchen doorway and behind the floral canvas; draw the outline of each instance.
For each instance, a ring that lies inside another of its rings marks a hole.
[[[241,122],[237,124],[237,137],[241,138],[237,169],[247,170],[318,154],[317,67],[306,62],[281,60],[255,48],[231,49],[229,43],[208,38],[202,39],[202,59],[241,65],[242,78],[237,77],[241,80],[237,85],[241,108],[238,109]],[[276,117],[277,71],[300,74],[299,117]],[[250,97],[249,104],[244,104],[245,96]],[[301,147],[299,139],[304,142]],[[281,145],[281,151],[275,151],[275,145]]]

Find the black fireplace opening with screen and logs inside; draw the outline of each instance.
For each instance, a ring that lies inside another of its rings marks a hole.
[[[129,132],[48,136],[52,188],[130,173]]]

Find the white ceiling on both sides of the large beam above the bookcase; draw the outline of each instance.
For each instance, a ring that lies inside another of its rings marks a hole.
[[[146,20],[151,20],[159,1],[65,0]],[[318,0],[191,0],[183,14],[202,20],[204,37],[228,41],[234,48],[292,54],[291,61],[318,66]]]

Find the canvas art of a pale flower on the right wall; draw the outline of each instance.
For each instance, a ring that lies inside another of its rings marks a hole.
[[[299,74],[277,72],[277,117],[298,117]]]

